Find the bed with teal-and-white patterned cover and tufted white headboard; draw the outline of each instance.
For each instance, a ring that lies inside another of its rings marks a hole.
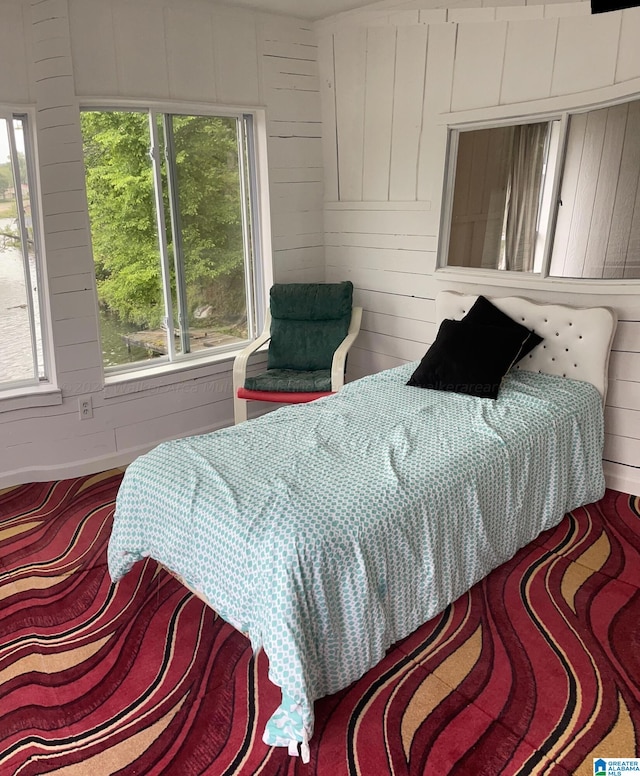
[[[439,332],[476,300],[441,292]],[[128,467],[113,581],[152,557],[264,650],[282,693],[267,744],[308,760],[316,699],[602,497],[615,316],[492,301],[539,335],[497,399],[408,385],[405,364]]]

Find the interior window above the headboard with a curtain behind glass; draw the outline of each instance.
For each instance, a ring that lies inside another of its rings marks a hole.
[[[640,278],[640,100],[454,129],[440,266]]]

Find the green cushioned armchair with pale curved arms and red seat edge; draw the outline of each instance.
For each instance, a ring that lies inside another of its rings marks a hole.
[[[276,283],[262,334],[233,364],[234,419],[248,401],[300,404],[342,388],[347,352],[360,331],[353,283]],[[247,376],[249,356],[269,342],[267,371]]]

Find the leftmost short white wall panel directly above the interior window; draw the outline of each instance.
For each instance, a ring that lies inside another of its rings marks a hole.
[[[498,104],[506,37],[507,22],[458,25],[452,110]]]

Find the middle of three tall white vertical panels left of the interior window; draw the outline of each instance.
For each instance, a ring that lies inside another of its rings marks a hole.
[[[369,27],[366,35],[362,198],[383,201],[389,197],[397,29]]]

